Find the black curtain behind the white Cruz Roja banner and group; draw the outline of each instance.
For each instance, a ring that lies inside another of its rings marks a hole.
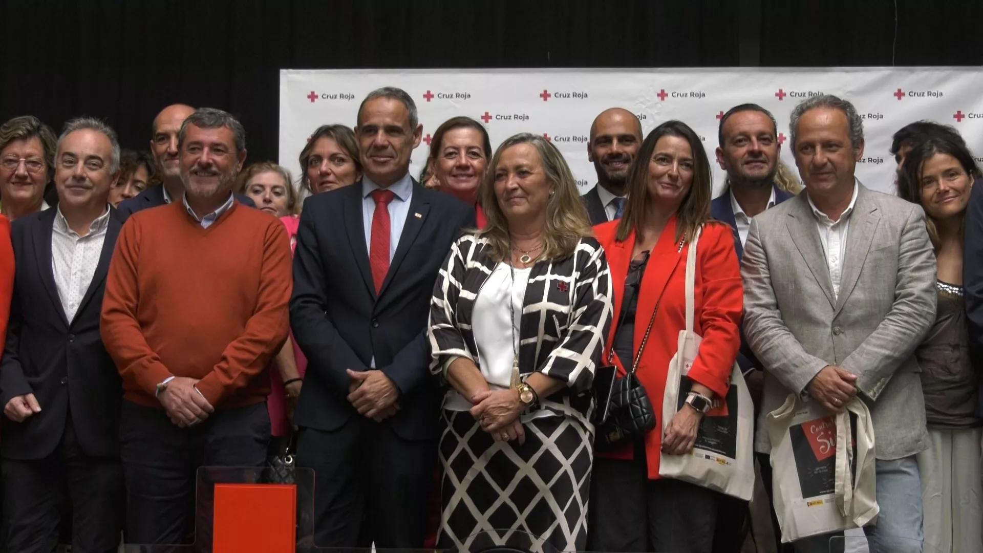
[[[163,106],[219,107],[255,161],[280,69],[983,65],[981,23],[983,0],[0,0],[0,121],[92,115],[146,149]]]

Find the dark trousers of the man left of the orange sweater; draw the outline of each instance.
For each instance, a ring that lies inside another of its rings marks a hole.
[[[41,460],[3,460],[4,538],[8,551],[50,553],[66,498],[72,551],[115,553],[123,531],[123,470],[116,458],[87,456],[72,420],[54,453]]]

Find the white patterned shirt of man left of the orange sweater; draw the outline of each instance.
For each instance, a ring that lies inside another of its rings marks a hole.
[[[106,213],[88,225],[88,234],[85,236],[79,236],[69,227],[61,208],[58,208],[55,215],[51,233],[51,272],[55,276],[58,298],[69,323],[75,319],[79,304],[86,297],[88,284],[99,265],[108,227],[109,206],[106,206]]]

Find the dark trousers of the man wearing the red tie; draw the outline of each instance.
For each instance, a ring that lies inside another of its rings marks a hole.
[[[361,415],[331,432],[301,428],[297,466],[315,471],[315,545],[422,549],[435,463],[435,441],[404,440]]]

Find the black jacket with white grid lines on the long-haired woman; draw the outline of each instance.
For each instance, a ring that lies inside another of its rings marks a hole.
[[[467,357],[478,364],[471,328],[475,299],[496,263],[488,240],[466,234],[450,249],[436,278],[428,338],[431,371],[444,362]],[[540,399],[542,408],[580,419],[590,427],[591,386],[601,363],[612,317],[611,277],[604,248],[582,238],[573,255],[541,261],[530,271],[519,324],[519,373],[541,372],[567,388]]]

